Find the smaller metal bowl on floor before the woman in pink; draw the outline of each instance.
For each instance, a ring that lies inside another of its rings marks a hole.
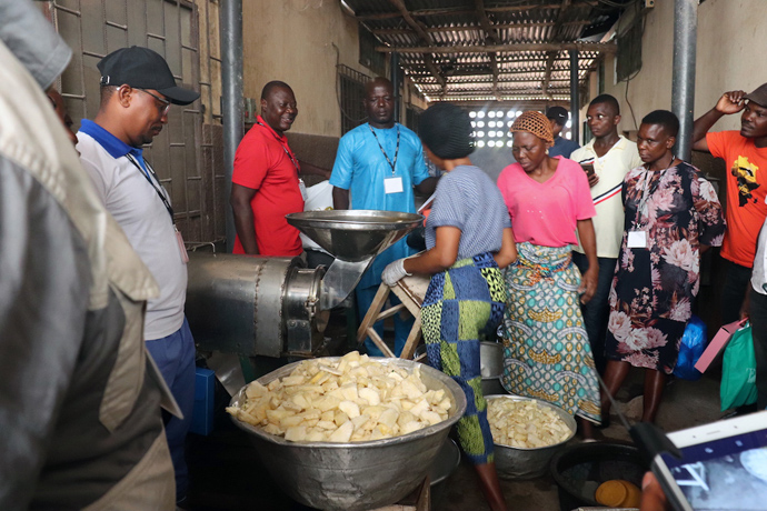
[[[549,468],[551,458],[565,448],[576,432],[576,421],[568,412],[559,407],[540,399],[524,398],[521,395],[486,395],[485,399],[508,399],[514,401],[536,401],[539,407],[554,410],[570,429],[570,435],[554,445],[545,448],[514,448],[495,443],[496,470],[498,477],[504,479],[535,479],[544,475]]]

